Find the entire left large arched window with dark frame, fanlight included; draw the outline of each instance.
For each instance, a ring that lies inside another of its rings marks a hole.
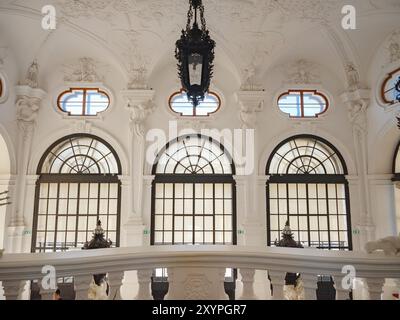
[[[65,137],[46,151],[37,174],[32,252],[81,249],[98,220],[119,246],[121,164],[107,142]]]

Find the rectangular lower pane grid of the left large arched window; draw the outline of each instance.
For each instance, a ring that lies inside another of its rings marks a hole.
[[[68,186],[64,194],[61,194],[62,185]],[[82,195],[82,186],[87,186],[84,188],[87,191],[86,196]],[[71,195],[73,188],[78,193]],[[97,195],[91,193],[91,188],[97,190]],[[47,195],[43,194],[42,189]],[[114,189],[113,196],[112,189]],[[50,194],[51,192],[53,194]],[[63,210],[62,204],[64,204]],[[95,210],[92,208],[93,205]],[[113,242],[113,246],[118,246],[119,183],[41,182],[36,243],[32,250],[54,252],[80,249],[86,241],[91,240],[98,220],[102,222],[105,237]]]

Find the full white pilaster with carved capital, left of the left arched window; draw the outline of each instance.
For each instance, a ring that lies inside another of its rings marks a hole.
[[[32,138],[35,132],[36,118],[40,109],[41,101],[46,93],[38,88],[30,86],[17,86],[16,91],[16,114],[19,129],[18,152],[17,152],[17,179],[16,192],[14,199],[14,213],[8,225],[9,248],[13,251],[22,252],[23,250],[23,231],[26,227],[25,215],[25,195],[26,195],[26,175],[29,157],[32,148]],[[30,212],[31,214],[31,212]]]

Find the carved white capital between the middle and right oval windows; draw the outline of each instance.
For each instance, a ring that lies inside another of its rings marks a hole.
[[[240,120],[243,129],[254,129],[257,125],[257,113],[264,109],[265,91],[238,91],[235,94],[240,107]]]

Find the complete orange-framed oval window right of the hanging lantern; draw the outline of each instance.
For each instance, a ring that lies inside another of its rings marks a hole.
[[[279,96],[278,107],[291,118],[317,118],[328,110],[329,101],[316,90],[289,90]]]

